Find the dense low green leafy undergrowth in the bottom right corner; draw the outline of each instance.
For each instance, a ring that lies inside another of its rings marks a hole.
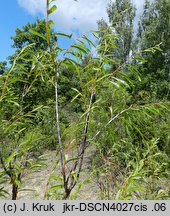
[[[169,196],[168,157],[158,149],[158,140],[134,148],[124,139],[113,145],[109,155],[102,155],[98,155],[100,162],[93,162],[96,166],[93,170],[103,199],[166,199]],[[167,175],[164,188],[158,186]]]

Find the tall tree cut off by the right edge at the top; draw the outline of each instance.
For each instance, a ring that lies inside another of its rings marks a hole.
[[[144,77],[140,84],[146,100],[170,99],[170,1],[145,1],[144,11],[139,22],[138,47],[145,50],[160,45],[157,51],[142,54],[147,60],[141,74]]]

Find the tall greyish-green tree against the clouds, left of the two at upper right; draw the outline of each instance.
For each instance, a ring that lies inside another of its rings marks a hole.
[[[133,21],[135,18],[135,7],[130,0],[116,0],[107,6],[109,23],[104,20],[98,21],[99,29],[105,26],[112,27],[112,34],[118,36],[116,40],[117,50],[112,50],[114,56],[125,63],[129,59],[132,50]]]

